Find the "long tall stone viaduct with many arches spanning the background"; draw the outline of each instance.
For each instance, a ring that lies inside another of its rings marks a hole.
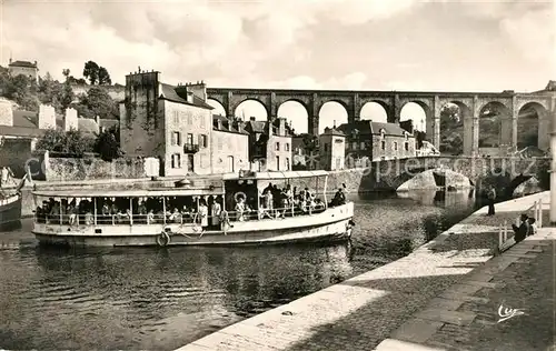
[[[440,144],[440,111],[447,103],[459,107],[464,120],[464,154],[477,156],[479,116],[494,108],[500,118],[500,146],[517,146],[517,119],[523,109],[534,109],[538,121],[538,147],[549,147],[550,111],[556,110],[556,94],[547,91],[533,93],[504,92],[424,92],[424,91],[347,91],[347,90],[285,90],[207,88],[207,98],[218,101],[227,116],[246,100],[259,101],[269,118],[276,117],[280,104],[297,101],[307,110],[308,130],[318,134],[319,111],[326,102],[338,102],[348,113],[348,122],[360,119],[365,103],[377,102],[386,110],[388,122],[398,122],[401,108],[408,102],[419,104],[426,114],[427,136],[436,148]],[[488,106],[488,107],[487,107]]]

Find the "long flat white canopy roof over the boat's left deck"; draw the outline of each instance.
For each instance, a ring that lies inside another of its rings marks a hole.
[[[133,189],[133,190],[99,190],[99,189],[68,189],[68,190],[38,190],[32,192],[46,198],[148,198],[148,197],[198,197],[220,195],[222,188],[163,188],[163,189]]]

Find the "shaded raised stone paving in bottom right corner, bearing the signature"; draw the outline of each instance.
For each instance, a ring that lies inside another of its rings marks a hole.
[[[556,229],[544,228],[450,288],[376,350],[556,350],[555,274]],[[498,322],[500,304],[525,314]]]

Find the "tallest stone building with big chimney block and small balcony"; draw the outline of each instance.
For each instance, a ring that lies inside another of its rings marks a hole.
[[[160,176],[208,174],[211,131],[203,82],[173,87],[158,71],[126,76],[120,143],[127,154],[158,158]]]

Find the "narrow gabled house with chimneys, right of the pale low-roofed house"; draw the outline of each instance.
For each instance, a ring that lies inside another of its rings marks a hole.
[[[245,129],[249,133],[250,170],[291,170],[292,134],[285,118],[274,118],[271,121],[256,121],[251,118]]]

